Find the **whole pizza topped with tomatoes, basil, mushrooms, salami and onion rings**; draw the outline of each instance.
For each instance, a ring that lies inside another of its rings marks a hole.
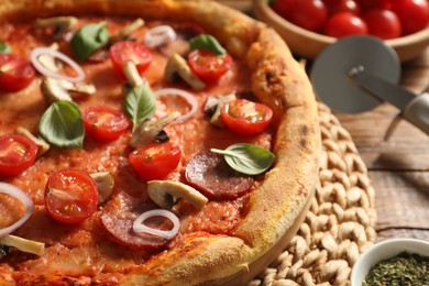
[[[305,69],[211,1],[0,7],[0,284],[244,284],[298,231]]]

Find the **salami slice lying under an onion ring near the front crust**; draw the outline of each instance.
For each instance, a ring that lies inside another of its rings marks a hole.
[[[150,233],[135,233],[133,222],[144,211],[154,209],[152,204],[141,204],[139,199],[120,194],[106,206],[101,215],[101,224],[110,238],[133,250],[158,249],[169,240]],[[145,221],[146,226],[167,230],[172,222],[166,218],[156,217]]]

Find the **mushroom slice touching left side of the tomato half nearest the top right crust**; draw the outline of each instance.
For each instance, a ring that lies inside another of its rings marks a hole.
[[[195,90],[202,90],[206,88],[206,84],[190,70],[186,59],[179,54],[174,53],[168,58],[167,66],[165,67],[165,79],[169,82],[174,82],[177,79],[177,75]]]

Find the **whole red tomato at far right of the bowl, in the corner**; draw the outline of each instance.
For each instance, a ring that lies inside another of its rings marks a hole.
[[[427,0],[395,0],[393,11],[398,15],[403,35],[416,33],[429,24],[429,3]]]

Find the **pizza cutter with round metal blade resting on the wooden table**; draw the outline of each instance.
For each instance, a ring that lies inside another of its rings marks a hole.
[[[429,134],[429,94],[417,96],[399,86],[399,58],[377,37],[338,40],[315,59],[310,79],[319,99],[334,111],[360,113],[387,101]]]

